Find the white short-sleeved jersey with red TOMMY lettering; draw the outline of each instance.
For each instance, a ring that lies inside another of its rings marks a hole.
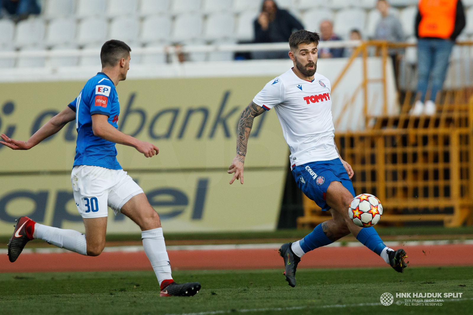
[[[292,69],[268,82],[254,104],[274,107],[291,151],[291,167],[338,157],[333,143],[330,81],[315,73],[314,81],[300,79]]]

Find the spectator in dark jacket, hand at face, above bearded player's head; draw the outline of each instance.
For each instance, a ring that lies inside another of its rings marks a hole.
[[[255,43],[280,43],[289,41],[289,36],[304,26],[287,10],[279,9],[274,0],[264,0],[261,13],[254,20]],[[254,59],[289,58],[287,51],[255,52]]]

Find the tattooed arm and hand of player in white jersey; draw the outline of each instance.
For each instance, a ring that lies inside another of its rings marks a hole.
[[[238,131],[236,132],[236,156],[227,171],[228,174],[235,173],[230,184],[233,184],[236,179],[239,179],[240,183],[243,184],[243,164],[245,163],[246,145],[253,127],[253,120],[254,117],[263,114],[264,111],[263,107],[254,104],[252,101],[240,114]]]

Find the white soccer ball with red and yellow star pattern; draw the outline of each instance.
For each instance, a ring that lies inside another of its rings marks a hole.
[[[376,196],[362,193],[350,202],[348,208],[350,219],[362,228],[369,228],[379,222],[383,215],[383,206]]]

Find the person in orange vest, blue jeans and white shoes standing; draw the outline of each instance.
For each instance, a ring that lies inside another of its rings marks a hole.
[[[420,0],[415,19],[418,71],[416,101],[410,114],[435,114],[435,100],[447,74],[448,61],[455,39],[465,27],[465,13],[461,0]],[[426,97],[430,80],[430,95]],[[424,106],[425,101],[425,106]]]

